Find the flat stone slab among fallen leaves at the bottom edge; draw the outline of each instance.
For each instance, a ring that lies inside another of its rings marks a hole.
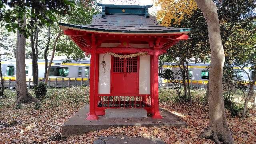
[[[148,138],[134,138],[124,135],[118,136],[101,136],[93,142],[93,144],[166,144],[159,138],[148,139]]]

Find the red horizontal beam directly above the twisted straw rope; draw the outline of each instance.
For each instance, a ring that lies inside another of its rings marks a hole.
[[[149,48],[97,48],[97,54],[104,54],[106,52],[113,53],[138,53],[138,52],[148,52],[148,55],[153,55],[154,50]]]

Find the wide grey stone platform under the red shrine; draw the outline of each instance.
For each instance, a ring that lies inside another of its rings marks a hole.
[[[62,126],[62,137],[84,134],[94,130],[101,130],[110,127],[122,126],[172,126],[176,128],[186,127],[186,123],[174,116],[172,113],[160,109],[162,119],[152,119],[151,116],[146,118],[105,118],[99,116],[98,120],[85,120],[89,112],[89,105],[85,105],[74,116],[72,116]]]

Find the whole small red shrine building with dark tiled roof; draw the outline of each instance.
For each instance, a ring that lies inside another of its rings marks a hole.
[[[64,34],[91,54],[90,112],[97,120],[108,108],[144,108],[161,119],[158,106],[158,57],[188,28],[164,27],[148,14],[150,6],[102,6],[89,25],[60,23]]]

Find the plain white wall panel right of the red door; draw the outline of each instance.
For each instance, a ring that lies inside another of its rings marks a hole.
[[[150,94],[150,56],[140,56],[140,94]]]

